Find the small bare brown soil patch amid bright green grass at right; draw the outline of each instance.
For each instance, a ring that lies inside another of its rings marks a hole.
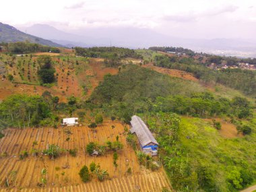
[[[236,126],[224,119],[214,118],[216,121],[220,122],[222,125],[222,129],[220,129],[219,133],[222,137],[225,138],[236,138],[243,137],[241,133],[238,133],[236,130]],[[205,121],[212,123],[212,119],[205,119]]]

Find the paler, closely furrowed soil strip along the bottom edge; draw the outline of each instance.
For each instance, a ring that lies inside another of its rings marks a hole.
[[[164,172],[148,172],[143,174],[134,174],[128,177],[117,177],[114,179],[106,180],[104,182],[92,181],[90,183],[83,183],[64,187],[46,187],[46,188],[29,188],[21,189],[21,192],[48,192],[48,191],[60,191],[60,192],[132,192],[132,191],[162,191],[163,187],[169,187],[168,181],[164,175]],[[11,191],[16,191],[13,189]],[[6,189],[0,189],[0,192],[6,192]]]

